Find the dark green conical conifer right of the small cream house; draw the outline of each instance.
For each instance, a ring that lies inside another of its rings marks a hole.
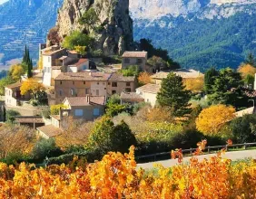
[[[157,94],[157,101],[162,107],[170,107],[174,117],[182,117],[191,112],[189,100],[191,91],[185,90],[182,77],[176,76],[173,72],[162,80],[160,92]]]

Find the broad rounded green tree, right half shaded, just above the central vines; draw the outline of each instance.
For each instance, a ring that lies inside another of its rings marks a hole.
[[[132,145],[136,145],[136,139],[124,121],[114,126],[110,118],[103,117],[95,123],[87,147],[104,155],[109,151],[127,152]]]

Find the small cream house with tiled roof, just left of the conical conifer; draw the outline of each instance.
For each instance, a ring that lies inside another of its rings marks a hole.
[[[136,93],[143,98],[147,103],[150,103],[152,107],[156,105],[156,96],[160,91],[161,86],[159,84],[146,84],[136,89]]]

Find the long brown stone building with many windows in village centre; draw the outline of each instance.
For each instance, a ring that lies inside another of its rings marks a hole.
[[[66,97],[105,96],[121,94],[123,90],[135,91],[136,78],[119,73],[100,71],[64,72],[55,78],[55,104]]]

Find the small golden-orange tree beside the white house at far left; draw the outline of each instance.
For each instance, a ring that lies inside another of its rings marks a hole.
[[[21,86],[21,94],[31,93],[34,96],[34,100],[38,100],[40,93],[44,92],[44,85],[34,79],[28,79],[24,81]]]

